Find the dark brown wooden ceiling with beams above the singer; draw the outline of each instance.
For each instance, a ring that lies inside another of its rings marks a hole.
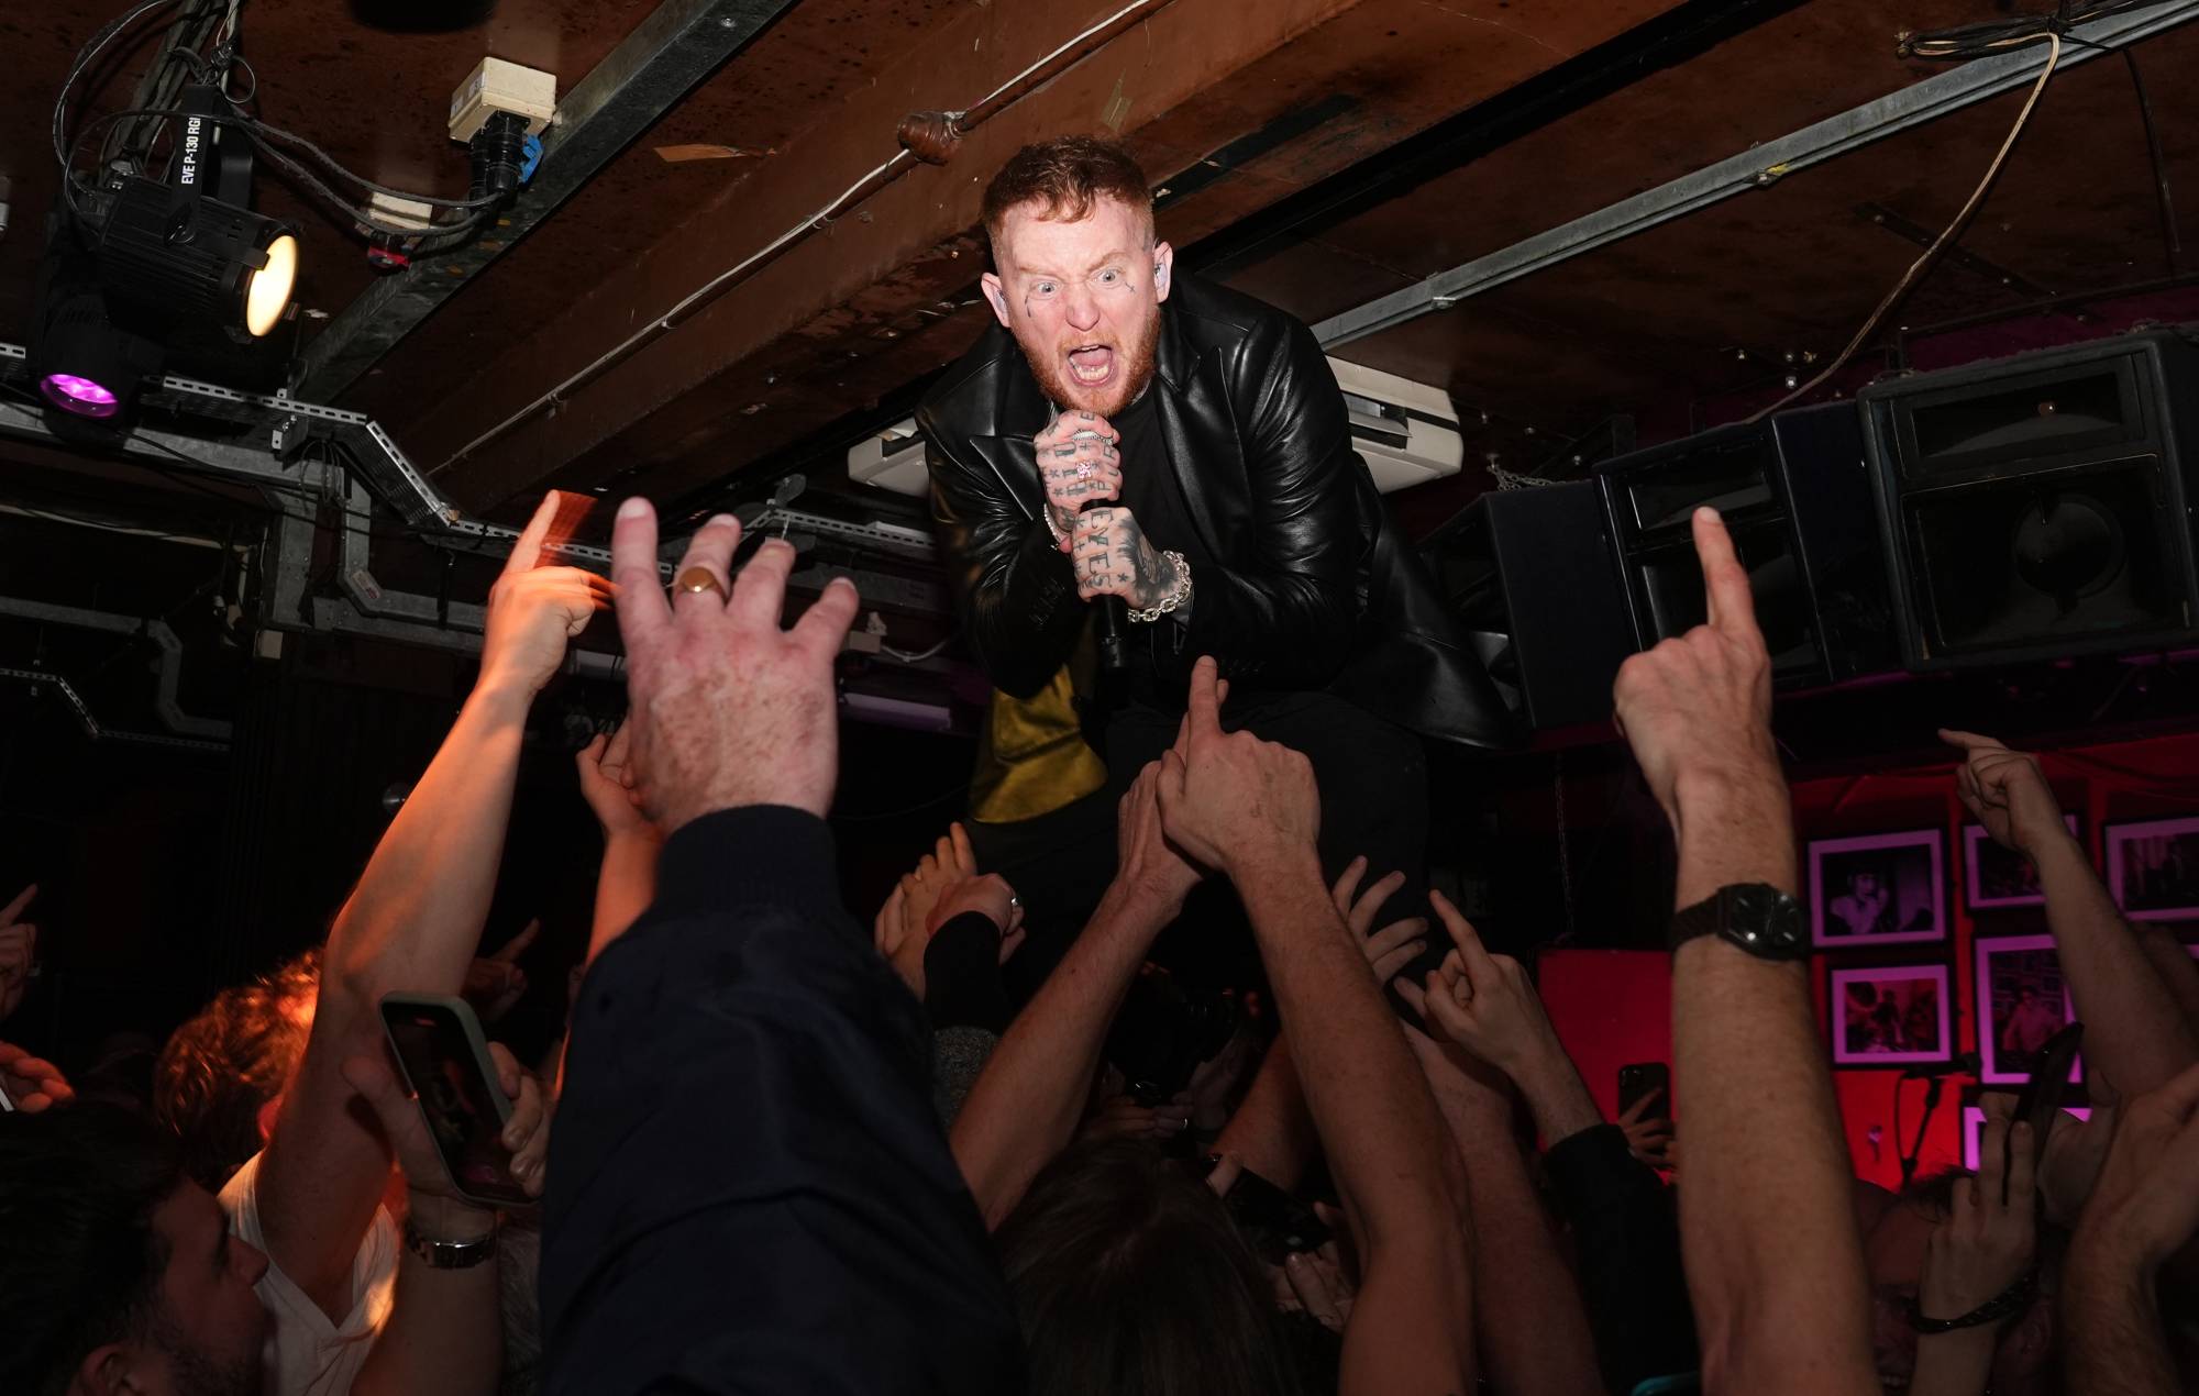
[[[0,13],[11,55],[0,174],[13,185],[0,323],[24,321],[55,193],[53,90],[114,9]],[[378,11],[365,0],[251,0],[242,51],[268,121],[365,176],[453,196],[466,163],[444,108],[482,55],[552,68],[565,92],[653,9],[499,0],[466,29],[400,33],[369,22]],[[499,257],[402,273],[462,284],[334,400],[378,418],[451,499],[497,519],[523,514],[543,486],[688,508],[754,497],[787,468],[829,479],[853,435],[906,411],[979,332],[979,191],[1034,136],[1119,132],[1163,182],[1161,231],[1190,264],[1311,321],[1944,73],[1896,57],[1896,33],[2016,7],[1148,0],[976,125],[943,167],[915,165],[587,372],[891,158],[906,114],[970,108],[1124,9],[787,4],[530,235],[508,251],[484,237]],[[2120,57],[2056,75],[1964,235],[1966,255],[1889,317],[1860,374],[1887,363],[1902,325],[1915,334],[2184,270],[2162,187],[2199,189],[2199,95],[2179,81],[2199,64],[2199,26],[2135,53],[2159,165]],[[88,110],[119,106],[147,57],[150,44],[110,66]],[[1546,466],[1555,442],[1612,413],[1636,418],[1645,437],[1678,435],[1777,396],[1786,356],[1836,350],[1915,257],[1898,229],[1929,235],[1953,215],[2019,101],[1983,101],[1339,350],[1469,409],[1469,470],[1407,497],[1407,517],[1443,517],[1484,488],[1476,466],[1489,455]],[[684,145],[730,154],[660,154]],[[259,189],[266,211],[306,226],[310,350],[330,325],[343,332],[369,286],[363,244],[279,178]],[[554,409],[530,411],[567,380]]]

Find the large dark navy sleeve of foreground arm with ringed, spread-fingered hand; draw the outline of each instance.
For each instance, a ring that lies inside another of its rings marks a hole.
[[[921,1011],[836,888],[822,820],[706,816],[589,972],[550,1143],[548,1392],[1023,1387]]]

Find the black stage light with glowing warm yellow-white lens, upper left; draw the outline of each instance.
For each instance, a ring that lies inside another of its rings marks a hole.
[[[281,321],[297,286],[297,233],[196,187],[123,176],[99,231],[108,290],[169,321],[251,339]]]

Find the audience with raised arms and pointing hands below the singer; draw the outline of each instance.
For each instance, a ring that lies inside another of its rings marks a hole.
[[[1385,917],[1401,877],[1366,860],[1324,877],[1313,765],[1231,730],[1209,660],[1036,987],[961,827],[864,937],[822,818],[853,589],[783,629],[789,550],[728,576],[717,519],[686,567],[721,589],[666,600],[629,503],[614,591],[539,565],[552,512],[323,948],[178,1029],[141,1110],[0,1060],[0,1389],[2190,1389],[2199,972],[2113,908],[2034,758],[1948,734],[1962,800],[2038,868],[2096,1112],[2038,1139],[1986,1097],[1975,1176],[1893,1196],[1847,1167],[1805,961],[1680,939],[1678,1134],[1605,1121],[1526,965],[1440,893]],[[1695,528],[1711,622],[1616,688],[1682,908],[1794,888],[1746,576]],[[631,712],[578,758],[605,857],[570,1035],[490,1046],[541,1205],[484,1205],[378,1002],[506,989],[477,952],[519,725],[614,594]],[[1150,963],[1203,882],[1264,972],[1212,1031]],[[0,985],[37,934],[24,899],[7,921]]]

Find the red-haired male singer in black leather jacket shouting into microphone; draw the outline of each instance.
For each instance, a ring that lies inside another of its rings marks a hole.
[[[1020,149],[985,231],[1001,323],[917,413],[979,664],[1009,699],[1060,690],[1119,598],[1128,671],[1102,675],[1110,708],[1086,723],[1113,789],[1174,741],[1192,662],[1214,655],[1223,721],[1313,758],[1330,871],[1366,853],[1370,877],[1418,886],[1414,730],[1502,745],[1506,719],[1352,455],[1313,334],[1174,277],[1146,176],[1106,141]]]

